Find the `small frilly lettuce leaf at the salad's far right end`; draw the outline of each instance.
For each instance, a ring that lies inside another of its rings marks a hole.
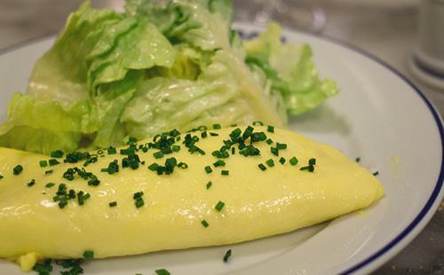
[[[301,114],[319,106],[339,91],[336,83],[321,80],[313,63],[311,47],[281,42],[281,27],[271,23],[257,38],[245,43],[246,62],[261,69],[278,90],[289,114]]]

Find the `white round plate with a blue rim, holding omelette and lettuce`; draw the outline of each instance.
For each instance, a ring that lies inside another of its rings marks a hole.
[[[237,27],[247,36],[258,31]],[[335,79],[342,90],[315,111],[291,119],[290,128],[361,157],[362,165],[379,171],[385,198],[361,213],[265,240],[92,261],[83,266],[87,274],[153,274],[158,268],[172,274],[367,273],[424,228],[443,196],[443,128],[430,102],[365,52],[323,37],[284,35],[310,43],[321,75]],[[0,55],[0,120],[12,92],[25,89],[34,62],[52,42],[48,37]],[[227,248],[233,249],[228,264],[221,260]],[[20,271],[0,261],[0,273]]]

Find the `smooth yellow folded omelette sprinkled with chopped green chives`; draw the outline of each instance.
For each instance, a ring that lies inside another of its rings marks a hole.
[[[216,125],[217,126],[217,125]],[[0,148],[0,257],[138,255],[255,240],[366,208],[377,178],[329,145],[254,125],[48,156]]]

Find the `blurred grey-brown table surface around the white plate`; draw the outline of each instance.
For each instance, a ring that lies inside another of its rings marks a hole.
[[[234,0],[236,17],[250,16],[262,0]],[[0,49],[32,38],[59,31],[69,12],[75,11],[82,0],[1,0]],[[95,6],[121,6],[119,0],[92,1]],[[306,2],[306,1],[305,1]],[[292,1],[305,7],[304,1]],[[384,59],[407,75],[427,98],[444,114],[444,90],[435,90],[419,83],[408,71],[408,58],[416,41],[418,2],[416,0],[316,0],[326,15],[321,34],[351,43]],[[294,22],[280,19],[284,27]],[[293,24],[293,25],[292,25]],[[297,27],[297,26],[296,26]],[[444,211],[440,207],[432,221],[399,255],[385,263],[376,274],[443,274],[444,273]]]

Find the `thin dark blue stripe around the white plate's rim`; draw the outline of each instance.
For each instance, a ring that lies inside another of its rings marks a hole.
[[[239,27],[236,27],[236,28],[239,28]],[[389,65],[383,59],[379,59],[376,56],[374,56],[373,54],[371,54],[367,51],[364,51],[361,48],[356,47],[351,43],[346,43],[344,41],[338,40],[337,38],[329,36],[329,35],[314,35],[312,33],[301,31],[301,30],[297,30],[297,31],[293,31],[293,32],[303,33],[305,35],[310,35],[310,36],[313,36],[316,38],[320,38],[320,39],[328,41],[330,43],[336,43],[337,45],[343,46],[345,49],[360,53],[361,55],[363,55],[363,56],[377,62],[379,65],[387,68],[394,75],[397,75],[398,77],[400,77],[401,80],[403,80],[405,83],[408,84],[408,86],[410,86],[413,90],[416,91],[416,93],[419,95],[419,97],[423,99],[424,104],[429,108],[429,111],[432,114],[433,119],[436,122],[436,126],[437,126],[438,130],[440,131],[440,141],[441,141],[441,149],[442,149],[441,151],[444,152],[444,126],[442,125],[442,122],[440,120],[440,114],[438,114],[436,109],[432,106],[432,103],[429,101],[429,99],[427,99],[424,96],[424,93],[421,90],[419,90],[414,83],[412,83],[410,80],[408,80],[407,76],[400,73],[400,71],[398,71],[396,68],[392,67],[392,65]],[[4,49],[0,49],[0,55],[4,55],[5,53],[10,52],[10,51],[18,50],[18,49],[25,47],[25,46],[32,44],[32,43],[37,43],[37,42],[43,41],[49,37],[52,37],[53,35],[55,35],[55,34],[52,33],[52,34],[48,34],[48,35],[43,35],[43,36],[28,39],[28,40],[23,41],[21,43],[15,43],[11,46],[7,46]],[[251,38],[253,36],[254,35],[248,35],[247,38]],[[282,40],[285,41],[285,37],[283,37]],[[410,224],[408,224],[408,226],[402,232],[400,232],[393,240],[391,240],[383,248],[380,248],[379,250],[377,250],[377,252],[375,252],[373,255],[370,255],[366,259],[362,260],[360,263],[356,263],[355,265],[346,269],[345,271],[341,271],[340,274],[351,274],[353,272],[360,271],[364,267],[367,267],[369,265],[369,263],[375,262],[382,255],[385,255],[388,251],[392,250],[392,248],[394,248],[396,245],[398,245],[401,240],[404,240],[410,234],[410,232],[412,232],[416,228],[416,226],[424,220],[424,217],[429,213],[429,211],[433,207],[433,204],[436,202],[436,199],[440,195],[440,191],[442,189],[443,184],[444,184],[444,155],[441,157],[440,176],[438,177],[437,183],[436,183],[435,187],[433,188],[433,192],[432,192],[430,198],[425,203],[424,207],[413,219],[413,221]]]

